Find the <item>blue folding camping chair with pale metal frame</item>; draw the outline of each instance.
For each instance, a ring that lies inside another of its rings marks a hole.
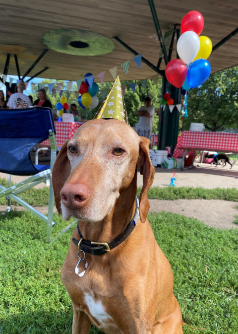
[[[51,166],[36,165],[31,159],[30,151],[48,138],[51,145]],[[8,174],[7,188],[0,185],[0,198],[6,197],[7,212],[11,209],[11,200],[15,200],[47,223],[48,242],[52,239],[52,226],[55,224],[52,221],[54,193],[51,171],[57,150],[55,127],[50,108],[34,107],[0,111],[0,172]],[[31,176],[11,187],[11,175]],[[48,216],[17,196],[41,182],[50,186]]]

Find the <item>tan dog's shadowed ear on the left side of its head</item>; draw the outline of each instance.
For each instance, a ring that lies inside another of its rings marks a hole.
[[[62,189],[71,171],[70,163],[67,157],[67,143],[68,140],[66,140],[60,148],[60,152],[52,170],[52,185],[54,189],[56,208],[59,213],[61,213],[60,190]]]

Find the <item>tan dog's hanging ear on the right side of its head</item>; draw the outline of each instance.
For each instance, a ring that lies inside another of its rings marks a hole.
[[[140,174],[143,175],[143,187],[140,193],[139,214],[142,223],[146,221],[150,208],[147,193],[153,183],[155,175],[155,168],[150,160],[149,143],[149,139],[140,137],[138,167],[140,169]]]

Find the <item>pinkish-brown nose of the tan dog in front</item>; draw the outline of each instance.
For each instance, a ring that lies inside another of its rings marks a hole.
[[[65,183],[60,191],[60,198],[63,205],[72,209],[82,207],[89,196],[90,189],[83,183]]]

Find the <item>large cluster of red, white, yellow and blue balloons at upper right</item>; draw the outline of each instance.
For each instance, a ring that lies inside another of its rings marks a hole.
[[[189,11],[181,21],[181,36],[177,42],[180,59],[170,61],[165,74],[170,83],[177,88],[188,90],[201,85],[211,73],[207,58],[212,52],[212,42],[200,36],[204,26],[201,13]]]

